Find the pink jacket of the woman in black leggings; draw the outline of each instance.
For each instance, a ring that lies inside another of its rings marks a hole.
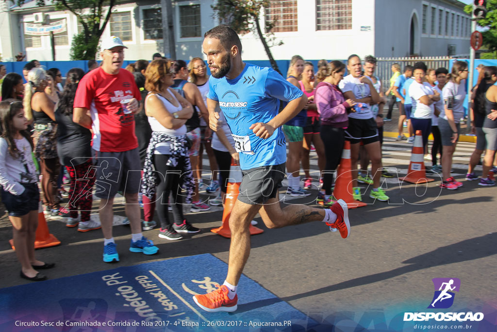
[[[314,101],[321,114],[321,124],[344,128],[348,126],[347,109],[342,92],[336,85],[320,82],[314,93]]]

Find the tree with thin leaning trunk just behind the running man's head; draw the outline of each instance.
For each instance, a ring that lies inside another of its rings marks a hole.
[[[220,18],[221,22],[226,22],[239,34],[256,32],[264,51],[267,54],[271,67],[280,73],[278,65],[269,49],[275,45],[282,45],[282,41],[276,41],[274,33],[271,32],[274,27],[274,21],[265,21],[264,30],[259,23],[259,15],[264,7],[268,8],[270,0],[218,0],[216,4],[211,5],[214,15]],[[280,73],[281,74],[281,73]]]

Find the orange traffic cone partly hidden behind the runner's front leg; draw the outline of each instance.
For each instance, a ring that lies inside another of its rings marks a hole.
[[[240,184],[242,183],[242,170],[240,169],[240,165],[237,165],[233,159],[231,160],[229,180],[230,182],[228,182],[228,186],[226,188],[226,201],[224,204],[223,223],[221,224],[221,227],[211,229],[211,232],[231,238],[231,210],[233,210],[233,206],[235,205],[238,194],[240,193],[239,188]],[[250,230],[250,235],[260,234],[264,231],[263,229],[254,227],[252,225],[248,227],[248,230]]]

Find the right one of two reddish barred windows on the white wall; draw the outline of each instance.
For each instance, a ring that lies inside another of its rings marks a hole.
[[[352,29],[352,0],[317,0],[316,30]]]

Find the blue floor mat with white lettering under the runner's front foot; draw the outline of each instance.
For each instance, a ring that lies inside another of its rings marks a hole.
[[[0,289],[0,331],[302,331],[317,325],[242,275],[238,310],[208,313],[192,299],[222,283],[210,255],[119,267]]]

